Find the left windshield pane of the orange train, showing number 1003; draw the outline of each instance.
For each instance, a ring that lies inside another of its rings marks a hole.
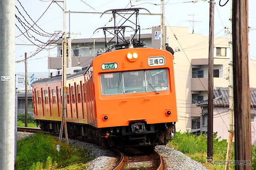
[[[111,72],[100,75],[103,95],[123,94],[122,72]]]

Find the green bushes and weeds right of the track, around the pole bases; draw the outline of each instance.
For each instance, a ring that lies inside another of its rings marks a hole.
[[[220,140],[217,138],[217,133],[214,134],[213,141],[213,160],[217,162],[207,162],[207,137],[201,133],[199,136],[192,135],[191,133],[176,132],[176,139],[169,142],[169,145],[176,150],[186,154],[190,158],[201,162],[210,170],[223,170],[225,165],[220,165],[218,161],[226,160],[227,140]],[[234,143],[232,147],[231,161],[234,161]],[[215,164],[214,164],[215,163]],[[256,146],[252,145],[252,167],[256,170]],[[230,165],[230,169],[234,170],[234,165]]]

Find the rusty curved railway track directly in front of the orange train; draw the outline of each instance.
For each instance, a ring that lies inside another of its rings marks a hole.
[[[113,170],[164,170],[162,158],[155,151],[128,148],[119,155],[120,161]]]

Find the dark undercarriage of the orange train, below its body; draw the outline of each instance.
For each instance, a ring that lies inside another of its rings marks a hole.
[[[60,121],[37,120],[42,131],[60,133]],[[96,128],[88,124],[67,122],[68,134],[98,142],[106,148],[150,147],[166,145],[174,139],[175,123],[147,124],[131,122],[129,126]],[[64,133],[63,133],[64,134]]]

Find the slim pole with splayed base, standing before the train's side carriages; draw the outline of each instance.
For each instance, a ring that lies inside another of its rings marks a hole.
[[[66,138],[66,144],[68,145],[68,129],[67,129],[67,123],[66,123],[66,111],[67,111],[67,105],[66,105],[66,79],[67,79],[67,74],[66,74],[66,60],[67,60],[67,37],[66,37],[66,0],[63,1],[63,40],[62,40],[62,121],[61,121],[61,126],[60,126],[60,138],[59,141],[62,139],[62,132],[63,132],[63,127],[65,129],[65,138]]]

